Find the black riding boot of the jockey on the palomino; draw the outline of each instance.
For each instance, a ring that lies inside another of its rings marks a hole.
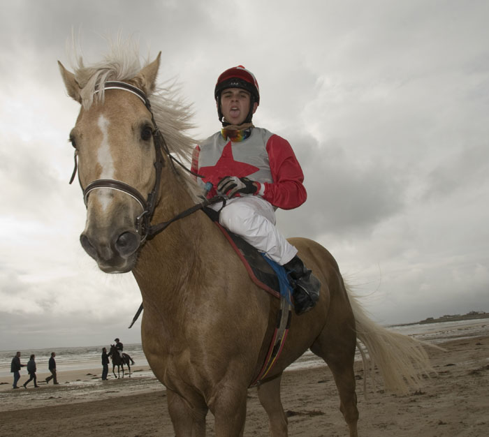
[[[319,299],[321,282],[307,269],[302,260],[295,255],[289,262],[284,264],[289,272],[291,285],[293,286],[293,300],[295,313],[300,315],[306,313],[316,305]]]

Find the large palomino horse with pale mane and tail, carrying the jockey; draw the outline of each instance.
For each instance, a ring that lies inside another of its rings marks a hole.
[[[204,436],[208,410],[217,437],[242,436],[247,390],[265,360],[278,300],[249,280],[198,208],[166,227],[201,201],[194,177],[175,165],[194,147],[185,133],[189,108],[171,88],[156,90],[160,55],[140,68],[137,54],[115,52],[92,67],[80,61],[75,73],[59,64],[69,96],[81,104],[70,135],[87,206],[81,244],[103,272],[133,272],[138,282],[143,350],[166,386],[176,436]],[[293,314],[282,355],[258,385],[270,434],[287,436],[282,372],[310,348],[332,371],[349,435],[357,436],[357,338],[386,388],[417,386],[420,373],[430,371],[428,357],[421,343],[365,315],[326,249],[309,239],[290,241],[322,288],[312,311]]]

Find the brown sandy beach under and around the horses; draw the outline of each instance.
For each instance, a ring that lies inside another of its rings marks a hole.
[[[404,396],[383,392],[358,378],[359,435],[363,437],[489,436],[489,320],[479,335],[463,332],[430,349],[437,371],[421,390]],[[135,366],[132,378],[100,380],[101,369],[59,372],[60,385],[40,383],[12,390],[12,378],[0,378],[0,435],[8,436],[173,436],[164,387],[147,367]],[[43,381],[48,373],[38,373]],[[22,384],[27,379],[22,371]],[[249,390],[245,436],[268,436],[268,419]],[[289,436],[348,436],[338,409],[330,371],[321,368],[286,371],[282,402],[289,416]],[[212,415],[207,435],[213,436]]]

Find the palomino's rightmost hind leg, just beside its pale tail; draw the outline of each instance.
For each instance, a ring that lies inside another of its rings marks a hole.
[[[342,314],[344,315],[344,311],[347,310],[342,310]],[[311,350],[326,361],[333,373],[333,378],[340,394],[340,411],[343,414],[346,424],[348,424],[350,437],[358,437],[356,380],[355,372],[353,371],[356,334],[354,323],[348,323],[344,319],[339,320],[339,318],[335,318],[335,315],[338,314],[337,311],[340,311],[340,309],[330,311],[328,324],[316,341],[314,341]]]

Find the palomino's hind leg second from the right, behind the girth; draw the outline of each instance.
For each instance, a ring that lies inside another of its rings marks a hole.
[[[265,408],[270,421],[271,437],[287,437],[287,417],[280,400],[280,381],[282,373],[272,380],[258,385],[258,399]]]

